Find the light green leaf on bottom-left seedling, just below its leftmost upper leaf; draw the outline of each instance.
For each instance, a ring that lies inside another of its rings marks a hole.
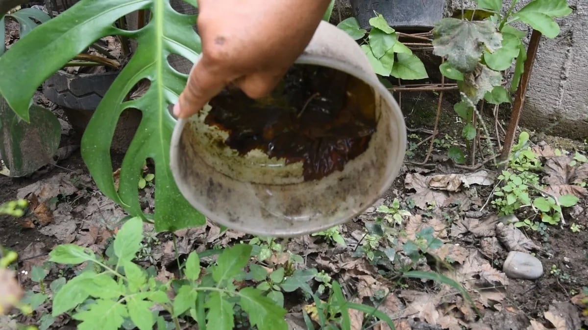
[[[93,277],[96,277],[95,273],[83,272],[66,282],[53,297],[51,315],[59,316],[84,302],[89,297],[86,288],[94,285]]]

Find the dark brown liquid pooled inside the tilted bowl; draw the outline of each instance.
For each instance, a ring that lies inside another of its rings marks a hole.
[[[286,164],[303,161],[306,181],[343,170],[375,132],[371,87],[335,69],[295,65],[270,96],[250,99],[234,87],[209,103],[205,123],[229,133],[239,154],[259,149]]]

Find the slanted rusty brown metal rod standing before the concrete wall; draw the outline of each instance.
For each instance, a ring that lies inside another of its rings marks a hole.
[[[529,86],[531,71],[533,69],[533,63],[535,62],[535,55],[537,54],[537,49],[539,48],[541,36],[541,32],[533,29],[531,40],[529,41],[529,48],[527,49],[527,60],[524,62],[524,72],[520,79],[520,85],[516,91],[515,102],[513,102],[513,110],[512,115],[510,115],[509,128],[506,130],[505,144],[502,147],[502,153],[500,154],[501,162],[508,160],[510,151],[512,151],[513,142],[515,141],[516,128],[519,126],[520,112],[524,106],[524,98],[527,93],[527,87]]]

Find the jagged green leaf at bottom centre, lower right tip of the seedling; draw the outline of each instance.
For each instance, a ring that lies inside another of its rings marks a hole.
[[[243,288],[239,291],[240,305],[249,315],[250,324],[257,325],[259,330],[286,330],[288,324],[284,321],[286,310],[279,307],[262,292],[254,288]]]

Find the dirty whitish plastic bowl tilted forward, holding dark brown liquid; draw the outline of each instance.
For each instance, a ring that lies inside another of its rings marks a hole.
[[[329,105],[335,115],[322,113]],[[293,113],[273,116],[270,106]],[[405,150],[396,101],[358,44],[321,22],[272,96],[250,100],[226,89],[178,120],[171,169],[183,196],[211,221],[291,237],[370,207],[398,175]]]

